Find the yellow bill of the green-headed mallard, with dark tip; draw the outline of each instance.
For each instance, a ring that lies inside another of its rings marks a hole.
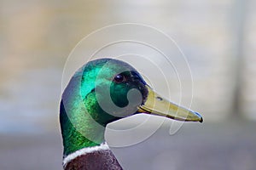
[[[162,98],[147,85],[148,98],[139,106],[138,112],[148,113],[156,116],[166,116],[167,118],[183,122],[203,122],[201,115],[195,111],[190,111],[182,106],[176,105],[167,99]]]

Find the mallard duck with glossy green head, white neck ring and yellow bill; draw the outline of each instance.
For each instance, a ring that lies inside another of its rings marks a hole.
[[[136,69],[124,61],[96,59],[82,66],[61,96],[64,169],[123,169],[104,140],[104,127],[140,113],[184,122],[203,121],[197,112],[154,92]]]

